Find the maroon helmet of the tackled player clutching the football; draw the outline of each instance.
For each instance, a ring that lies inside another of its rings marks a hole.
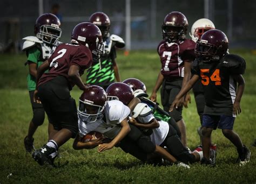
[[[78,116],[85,123],[93,123],[103,118],[107,103],[106,92],[102,87],[90,86],[79,98]]]

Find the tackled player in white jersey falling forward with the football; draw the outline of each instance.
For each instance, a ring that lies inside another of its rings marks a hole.
[[[127,84],[125,85],[130,88]],[[134,96],[131,88],[130,91],[132,100]],[[177,162],[164,148],[154,145],[135,126],[130,126],[127,122],[129,115],[130,109],[122,102],[107,101],[103,88],[90,86],[79,98],[79,134],[73,143],[73,148],[79,150],[98,146],[98,152],[102,152],[118,144],[125,152],[129,152],[143,161],[146,161],[150,154],[156,153],[170,162]],[[111,139],[110,143],[103,143],[102,138],[93,138],[91,141],[83,143],[82,138],[92,131],[103,133],[105,137]],[[184,166],[184,164],[180,165]]]

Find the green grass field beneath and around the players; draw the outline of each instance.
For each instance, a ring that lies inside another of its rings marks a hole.
[[[212,141],[218,145],[217,167],[193,164],[191,169],[143,165],[120,148],[103,153],[98,153],[96,149],[76,151],[72,148],[73,140],[60,147],[61,158],[56,160],[57,168],[39,166],[25,152],[23,145],[32,117],[29,93],[26,90],[28,68],[23,65],[26,56],[0,55],[0,183],[255,183],[256,147],[251,146],[256,138],[255,55],[251,51],[241,50],[233,50],[231,53],[243,56],[247,62],[242,114],[236,119],[234,130],[250,148],[251,161],[239,167],[235,162],[235,147],[217,130],[212,135]],[[129,56],[119,52],[117,61],[123,80],[136,77],[146,84],[148,93],[151,93],[160,69],[156,51],[131,52]],[[80,93],[75,88],[71,95],[78,100]],[[184,119],[188,146],[194,148],[199,144],[197,128],[200,123],[193,94],[191,97],[192,103],[184,110]],[[35,133],[36,148],[46,142],[47,127],[48,121],[45,121]]]

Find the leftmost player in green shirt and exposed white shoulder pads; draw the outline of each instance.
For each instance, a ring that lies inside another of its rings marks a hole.
[[[35,35],[23,38],[24,43],[22,50],[26,52],[28,59],[25,66],[29,66],[29,74],[26,77],[28,83],[28,90],[30,96],[30,103],[32,106],[33,117],[29,124],[28,135],[24,138],[24,145],[27,152],[35,150],[33,146],[33,135],[38,126],[44,123],[44,108],[41,101],[33,101],[33,94],[36,89],[36,75],[37,69],[42,63],[49,59],[56,46],[58,46],[59,38],[62,34],[60,29],[59,19],[51,14],[44,13],[39,16],[35,24]],[[49,130],[52,126],[49,125]]]

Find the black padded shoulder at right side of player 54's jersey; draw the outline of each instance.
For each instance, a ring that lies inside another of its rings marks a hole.
[[[227,54],[221,59],[221,64],[228,67],[231,74],[244,74],[246,69],[246,63],[243,58],[235,54]]]

